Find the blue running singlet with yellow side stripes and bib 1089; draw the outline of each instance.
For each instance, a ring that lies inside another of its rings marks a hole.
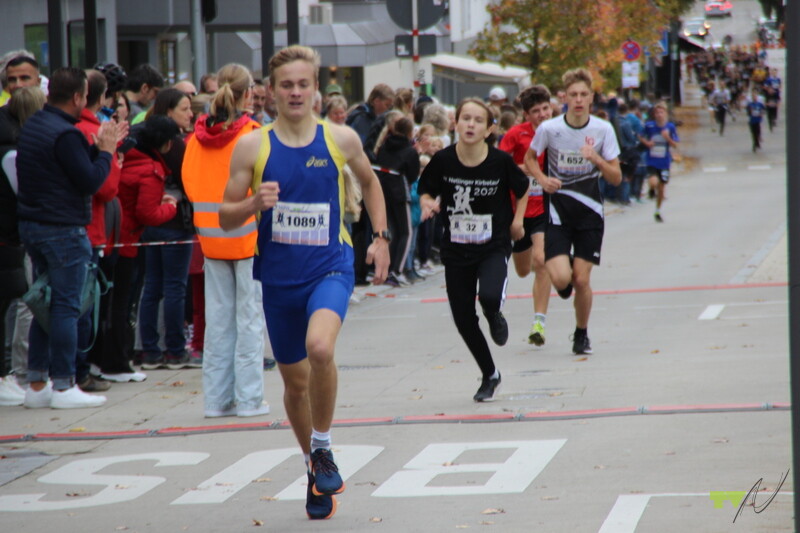
[[[302,285],[331,272],[353,274],[353,242],[344,225],[344,155],[330,127],[317,122],[307,146],[283,144],[272,125],[261,129],[252,189],[280,187],[278,204],[257,214],[253,275],[266,286]]]

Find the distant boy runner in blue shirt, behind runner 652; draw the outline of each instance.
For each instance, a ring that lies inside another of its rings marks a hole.
[[[678,147],[678,131],[675,124],[667,120],[667,105],[659,102],[653,106],[653,117],[644,125],[639,139],[647,146],[647,175],[650,188],[656,192],[656,222],[664,222],[661,218],[661,204],[664,202],[664,190],[669,182],[669,167],[672,163],[670,148]]]

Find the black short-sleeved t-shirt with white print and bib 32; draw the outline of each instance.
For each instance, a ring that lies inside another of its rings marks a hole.
[[[511,254],[514,212],[510,192],[527,193],[528,177],[507,153],[489,147],[486,159],[464,166],[455,145],[434,154],[420,177],[418,192],[441,197],[444,225],[442,261],[470,261],[494,250]]]

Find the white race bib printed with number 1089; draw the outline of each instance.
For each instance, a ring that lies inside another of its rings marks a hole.
[[[305,246],[327,246],[331,206],[327,203],[278,202],[272,208],[272,241]]]

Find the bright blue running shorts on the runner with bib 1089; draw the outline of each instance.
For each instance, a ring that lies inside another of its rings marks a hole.
[[[308,357],[308,322],[316,311],[329,309],[344,322],[354,283],[352,273],[331,272],[300,286],[262,285],[264,317],[275,360],[289,365]]]

